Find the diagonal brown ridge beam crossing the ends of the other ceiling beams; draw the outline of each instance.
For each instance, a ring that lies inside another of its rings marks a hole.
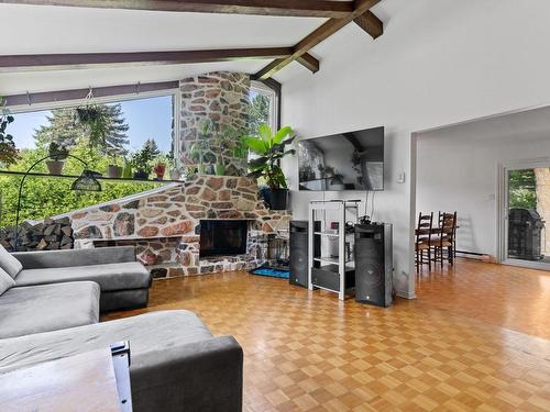
[[[277,71],[282,70],[290,63],[298,60],[301,56],[308,53],[311,48],[317,46],[322,41],[330,37],[332,34],[338,32],[340,29],[345,26],[346,24],[354,21],[356,18],[361,16],[365,12],[367,12],[371,8],[373,8],[381,0],[355,0],[354,9],[351,13],[349,13],[343,19],[330,19],[319,27],[317,27],[314,32],[304,37],[299,43],[297,43],[293,49],[293,54],[287,57],[280,57],[275,59],[265,66],[262,70],[256,73],[256,77],[258,79],[265,80],[275,75]]]

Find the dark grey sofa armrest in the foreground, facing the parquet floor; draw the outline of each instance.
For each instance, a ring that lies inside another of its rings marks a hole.
[[[243,352],[232,336],[212,337],[132,358],[135,411],[242,410]]]

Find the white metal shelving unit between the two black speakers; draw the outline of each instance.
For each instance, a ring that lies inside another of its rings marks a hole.
[[[311,201],[309,202],[309,237],[308,237],[308,288],[314,290],[320,288],[338,293],[338,299],[344,300],[345,292],[355,286],[355,263],[352,258],[353,233],[345,232],[345,223],[358,222],[359,200],[344,201]],[[319,214],[322,213],[322,219]],[[334,216],[331,222],[338,222],[337,230],[327,229],[327,214]],[[321,224],[315,225],[315,222]],[[317,227],[317,229],[315,229]],[[320,227],[320,229],[319,229]],[[323,240],[338,242],[338,256],[327,256],[323,254],[323,247],[316,248]],[[349,243],[348,256],[345,244]],[[314,250],[321,250],[315,255]]]

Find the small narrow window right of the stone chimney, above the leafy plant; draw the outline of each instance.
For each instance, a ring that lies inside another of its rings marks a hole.
[[[261,81],[252,81],[250,88],[250,129],[256,131],[267,123],[273,131],[277,127],[277,93]]]

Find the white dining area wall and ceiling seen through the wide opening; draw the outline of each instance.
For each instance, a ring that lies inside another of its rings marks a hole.
[[[498,165],[549,155],[548,108],[419,134],[417,211],[457,211],[457,248],[496,257]]]

